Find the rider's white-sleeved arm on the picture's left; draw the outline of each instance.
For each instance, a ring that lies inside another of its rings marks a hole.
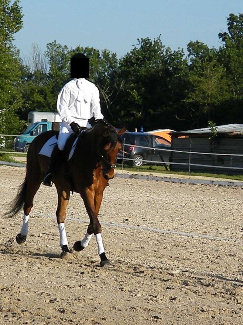
[[[63,122],[71,124],[74,119],[70,116],[70,110],[68,108],[70,101],[71,91],[68,87],[63,87],[57,97],[56,108]]]

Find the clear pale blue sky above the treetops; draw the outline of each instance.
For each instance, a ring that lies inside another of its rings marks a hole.
[[[242,0],[21,0],[24,27],[14,44],[28,58],[32,43],[42,51],[56,40],[76,45],[107,48],[118,57],[129,52],[137,38],[156,38],[172,50],[186,50],[199,40],[218,47],[218,33],[227,31],[229,13],[243,12]]]

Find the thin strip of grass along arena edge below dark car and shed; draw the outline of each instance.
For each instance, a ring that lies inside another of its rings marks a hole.
[[[122,168],[122,164],[117,163],[116,164],[119,169]],[[188,172],[171,172],[170,170],[166,170],[164,166],[158,166],[158,165],[143,165],[140,167],[133,167],[131,165],[124,165],[124,170],[128,170],[131,172],[156,172],[161,174],[175,174],[175,175],[186,175],[189,176]],[[216,178],[227,178],[227,179],[234,179],[234,180],[240,180],[243,181],[243,175],[225,175],[225,174],[212,174],[212,173],[196,173],[191,172],[190,176],[204,176],[204,177],[216,177]]]

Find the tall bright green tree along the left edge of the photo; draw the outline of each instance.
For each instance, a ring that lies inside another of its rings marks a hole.
[[[19,0],[0,0],[0,133],[16,133],[23,127],[17,110],[22,99],[17,88],[21,77],[19,51],[12,45],[14,34],[22,28]]]

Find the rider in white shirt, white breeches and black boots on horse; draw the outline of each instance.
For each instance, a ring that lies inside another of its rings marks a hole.
[[[79,133],[80,127],[90,127],[88,119],[103,119],[101,114],[99,91],[96,85],[86,80],[89,78],[89,59],[81,53],[72,56],[70,60],[69,81],[60,90],[57,97],[57,111],[62,119],[57,146],[51,155],[50,165],[46,172],[43,184],[52,186],[55,167],[62,157],[62,150],[68,137],[75,132]]]

